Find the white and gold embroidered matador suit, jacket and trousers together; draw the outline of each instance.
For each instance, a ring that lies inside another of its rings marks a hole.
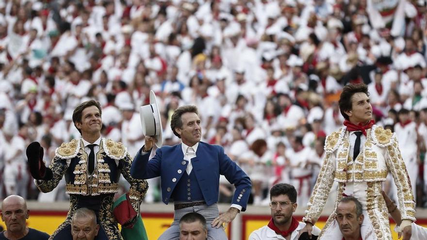
[[[338,202],[346,195],[355,196],[362,204],[364,220],[361,234],[364,240],[391,240],[389,218],[381,184],[391,172],[397,186],[402,220],[415,221],[415,202],[405,163],[391,130],[373,125],[361,139],[360,154],[353,161],[354,138],[346,127],[333,132],[326,139],[326,156],[314,186],[304,222],[316,223],[334,181],[338,182],[335,208],[323,228],[320,238],[342,239],[335,221]],[[403,223],[403,222],[402,222]]]

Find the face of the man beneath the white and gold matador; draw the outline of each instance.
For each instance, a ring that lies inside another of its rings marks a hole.
[[[363,214],[356,213],[356,204],[352,201],[338,204],[336,220],[344,237],[359,236]]]

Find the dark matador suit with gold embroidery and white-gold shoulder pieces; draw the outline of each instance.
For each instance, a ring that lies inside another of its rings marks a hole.
[[[93,174],[88,174],[88,143],[82,138],[64,143],[55,151],[55,157],[49,165],[53,176],[49,180],[36,180],[41,192],[52,191],[65,176],[66,193],[70,195],[70,209],[66,221],[52,234],[50,239],[71,240],[71,217],[78,208],[89,208],[97,214],[100,225],[96,240],[123,240],[113,216],[114,194],[117,192],[120,174],[131,184],[128,201],[131,208],[139,213],[139,206],[148,185],[146,180],[131,177],[132,158],[126,147],[112,140],[99,138],[96,164]]]

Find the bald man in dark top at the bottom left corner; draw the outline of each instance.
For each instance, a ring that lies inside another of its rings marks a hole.
[[[49,234],[26,226],[30,210],[24,198],[10,195],[1,203],[1,221],[6,231],[0,233],[0,240],[48,240]]]

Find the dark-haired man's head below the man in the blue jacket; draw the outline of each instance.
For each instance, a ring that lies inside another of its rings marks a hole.
[[[180,219],[180,240],[207,240],[206,219],[197,212],[189,212]]]

